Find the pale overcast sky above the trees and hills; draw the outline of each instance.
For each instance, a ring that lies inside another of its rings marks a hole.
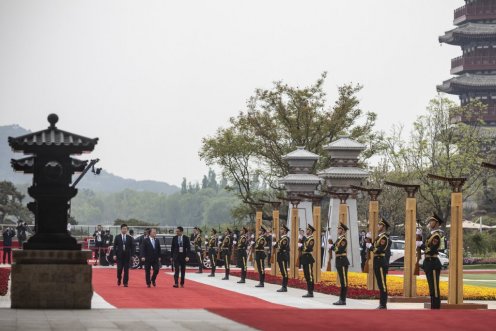
[[[411,122],[450,77],[440,46],[462,0],[0,0],[0,125],[99,137],[101,166],[179,185],[207,171],[201,138],[255,88],[328,72],[364,85],[377,128]],[[7,162],[2,160],[2,162]]]

